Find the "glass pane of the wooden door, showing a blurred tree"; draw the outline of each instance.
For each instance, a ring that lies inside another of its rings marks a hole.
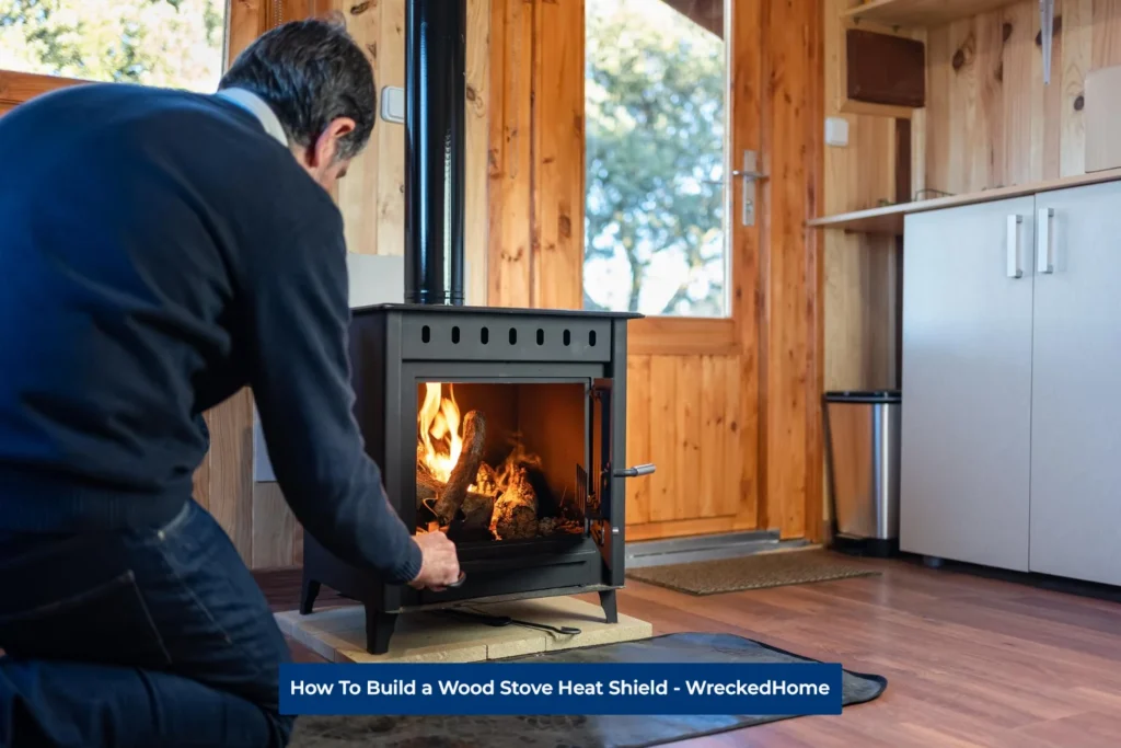
[[[584,306],[724,317],[724,0],[586,0]]]

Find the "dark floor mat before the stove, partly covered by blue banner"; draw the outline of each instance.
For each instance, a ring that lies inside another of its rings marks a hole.
[[[730,634],[670,634],[640,641],[549,652],[506,662],[565,663],[799,663],[808,657]],[[370,667],[377,667],[371,664]],[[844,672],[842,703],[879,698],[879,675]],[[789,719],[728,717],[302,717],[291,748],[639,748]]]

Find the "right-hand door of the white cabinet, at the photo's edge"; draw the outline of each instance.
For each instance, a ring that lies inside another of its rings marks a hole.
[[[1121,584],[1121,183],[1036,207],[1031,571]]]

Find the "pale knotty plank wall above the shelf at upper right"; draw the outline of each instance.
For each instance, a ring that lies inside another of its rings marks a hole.
[[[930,29],[925,185],[954,194],[1085,173],[1090,71],[1121,65],[1121,0],[1056,0],[1044,86],[1034,0]]]

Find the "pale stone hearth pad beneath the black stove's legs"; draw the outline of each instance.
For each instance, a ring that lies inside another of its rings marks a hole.
[[[474,663],[654,635],[650,624],[630,616],[620,615],[618,624],[605,624],[599,606],[575,598],[517,600],[466,609],[571,626],[581,632],[566,636],[517,625],[495,628],[432,612],[405,613],[397,620],[389,653],[371,655],[365,650],[365,612],[359,606],[327,608],[311,616],[290,610],[277,613],[276,619],[286,635],[335,663]]]

